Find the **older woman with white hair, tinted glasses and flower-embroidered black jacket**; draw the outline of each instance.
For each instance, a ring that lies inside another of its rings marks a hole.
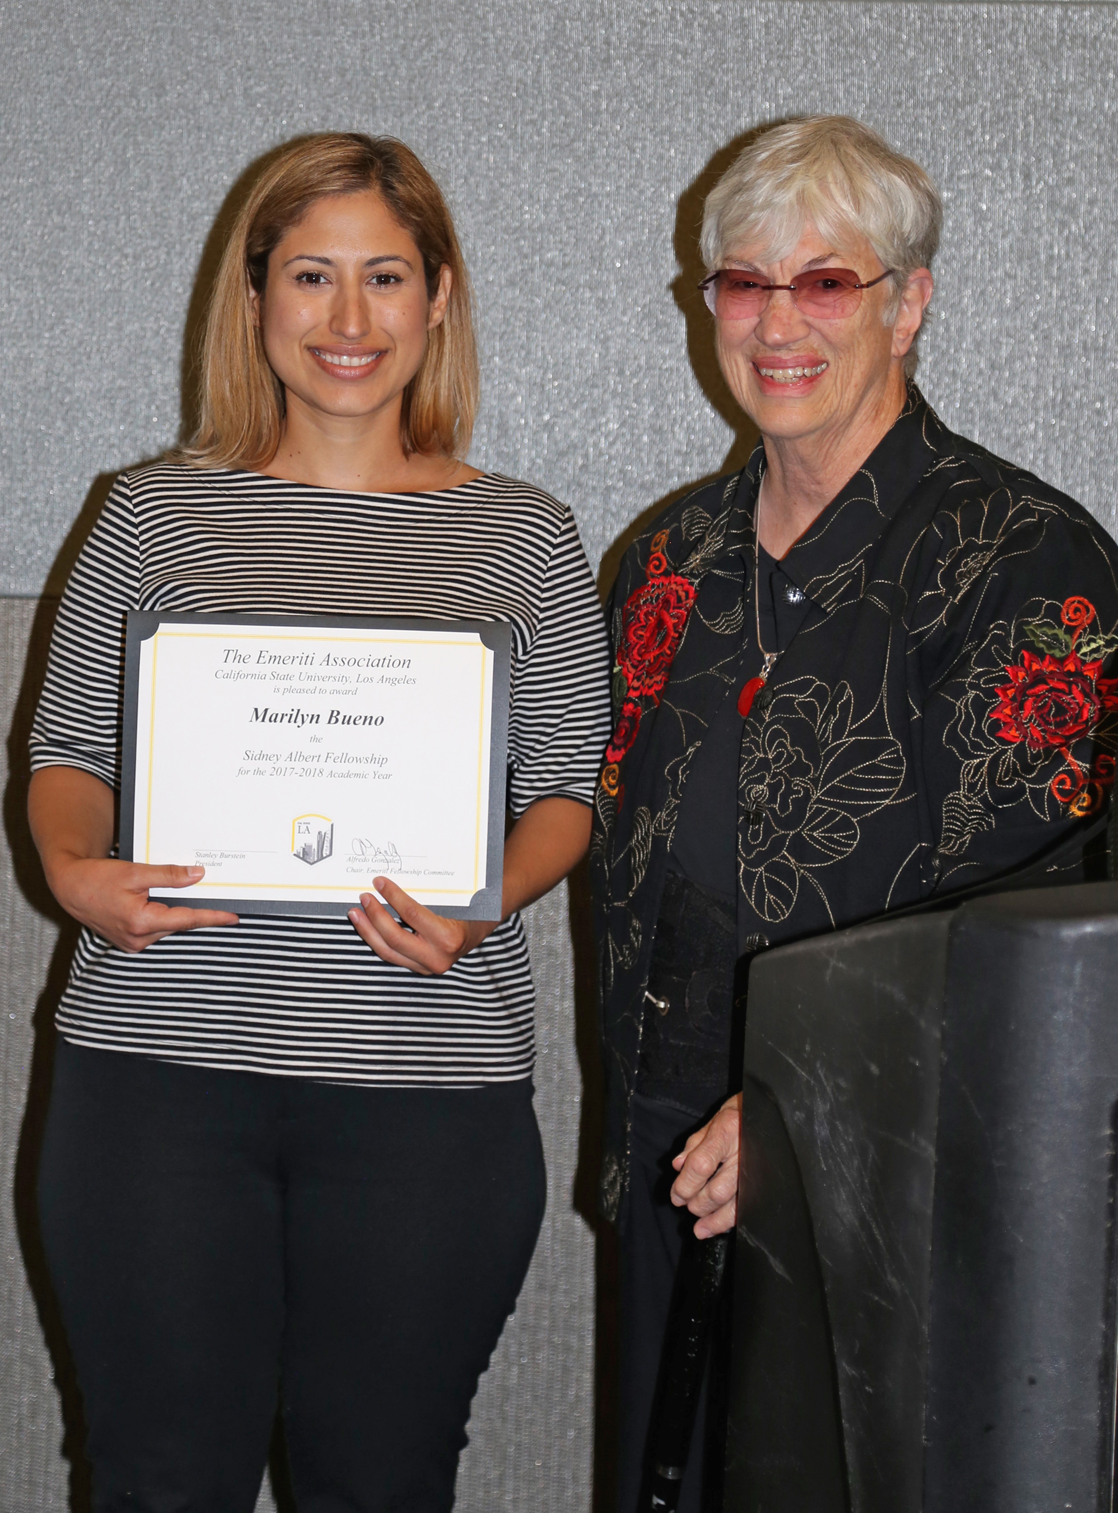
[[[1113,782],[1118,549],[912,383],[939,219],[841,117],[761,133],[707,201],[719,363],[761,443],[623,561],[592,846],[622,1513],[685,1209],[699,1238],[734,1223],[749,959],[1051,849],[1082,878]]]

